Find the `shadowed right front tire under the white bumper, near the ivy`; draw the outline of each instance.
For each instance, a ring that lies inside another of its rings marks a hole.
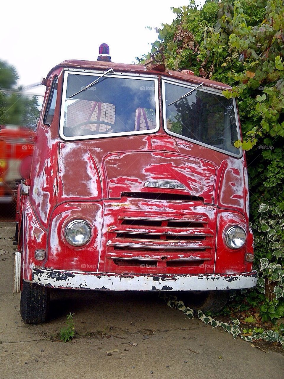
[[[197,291],[187,296],[189,307],[203,312],[220,312],[229,300],[228,291]]]

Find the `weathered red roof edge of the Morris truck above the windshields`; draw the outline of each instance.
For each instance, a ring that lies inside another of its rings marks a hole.
[[[142,66],[140,64],[125,64],[125,63],[114,63],[114,62],[104,62],[104,61],[83,61],[83,60],[67,60],[59,63],[53,69],[51,69],[48,74],[47,78],[53,72],[55,69],[63,67],[63,68],[78,68],[78,69],[89,69],[89,70],[95,70],[95,69],[109,69],[112,68],[117,71],[125,71],[125,72],[141,72],[144,74],[152,74],[152,75],[163,75],[165,77],[169,78],[175,78],[180,80],[186,80],[190,83],[203,83],[204,85],[216,89],[221,89],[225,91],[228,89],[229,91],[232,89],[231,86],[228,86],[223,83],[219,83],[218,81],[209,80],[206,78],[201,78],[195,75],[186,74],[184,72],[178,72],[173,70],[165,70],[165,71],[158,71],[151,69],[147,66]]]

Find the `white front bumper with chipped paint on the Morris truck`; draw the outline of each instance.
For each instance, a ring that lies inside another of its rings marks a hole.
[[[257,272],[241,274],[134,275],[73,272],[33,267],[33,282],[52,288],[103,291],[212,291],[256,286]]]

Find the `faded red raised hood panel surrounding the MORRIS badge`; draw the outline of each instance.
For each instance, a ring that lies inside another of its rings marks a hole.
[[[175,180],[185,190],[162,189],[164,193],[180,193],[203,197],[212,204],[215,166],[204,160],[163,152],[111,153],[104,160],[109,197],[119,198],[123,192],[161,192],[146,188],[145,183]]]

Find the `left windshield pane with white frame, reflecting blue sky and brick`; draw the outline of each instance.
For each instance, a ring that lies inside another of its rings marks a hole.
[[[63,87],[60,135],[64,139],[158,130],[156,78],[68,72]]]

